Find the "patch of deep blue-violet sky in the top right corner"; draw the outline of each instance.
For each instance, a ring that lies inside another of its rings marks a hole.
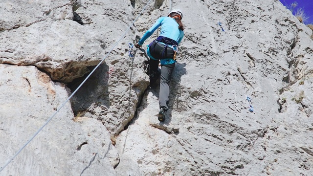
[[[297,11],[298,8],[303,8],[304,13],[306,14],[306,16],[309,17],[309,19],[304,23],[313,24],[313,0],[280,0],[280,1],[285,6],[290,6],[291,3],[297,2],[298,5],[295,7],[294,11]]]

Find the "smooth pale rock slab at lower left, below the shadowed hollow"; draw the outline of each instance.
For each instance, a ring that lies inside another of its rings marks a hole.
[[[63,104],[67,91],[35,66],[0,65],[0,73],[0,91],[5,92],[0,94],[2,167]],[[0,175],[114,176],[118,154],[106,129],[90,120],[82,128],[73,118],[67,103]]]

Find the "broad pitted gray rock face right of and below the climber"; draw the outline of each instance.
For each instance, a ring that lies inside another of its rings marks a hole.
[[[152,14],[166,14],[165,2]],[[173,5],[186,29],[169,118],[156,120],[158,88],[148,89],[118,137],[119,151],[146,175],[310,176],[312,30],[275,0]],[[136,25],[145,30],[152,22]]]

